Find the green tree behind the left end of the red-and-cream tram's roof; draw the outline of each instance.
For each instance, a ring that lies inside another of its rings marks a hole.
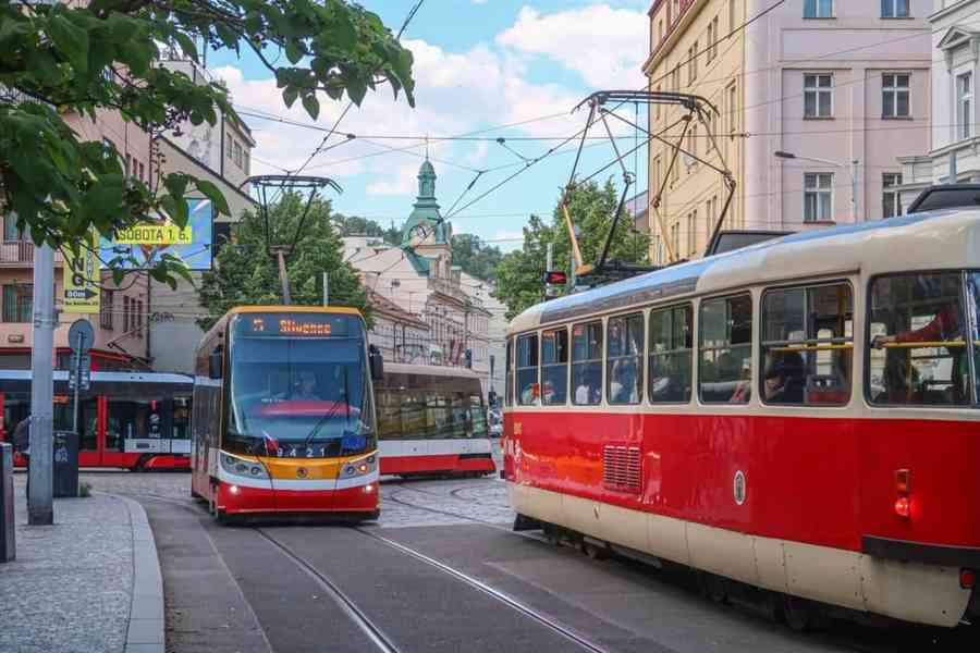
[[[572,192],[568,213],[573,224],[579,230],[578,246],[585,262],[595,263],[599,260],[618,199],[611,181],[604,186],[589,182]],[[531,215],[524,227],[524,245],[504,256],[498,267],[494,296],[507,306],[509,320],[543,300],[542,274],[548,243],[553,247],[554,269],[569,270],[572,244],[560,205],[555,206],[550,223],[538,215]],[[648,263],[649,249],[649,236],[636,232],[629,217],[624,214],[613,234],[609,260]],[[565,289],[561,292],[564,293]]]

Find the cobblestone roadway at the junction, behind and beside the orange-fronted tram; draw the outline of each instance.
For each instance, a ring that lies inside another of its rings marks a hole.
[[[99,492],[191,501],[191,476],[186,472],[91,471],[83,472],[81,480]],[[381,480],[381,519],[378,525],[383,528],[475,521],[501,526],[514,521],[514,513],[507,506],[505,484],[494,477]]]

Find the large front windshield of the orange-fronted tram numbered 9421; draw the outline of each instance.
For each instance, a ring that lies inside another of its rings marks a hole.
[[[242,316],[232,331],[224,447],[301,458],[372,449],[373,407],[360,321],[303,316],[320,325],[308,329],[309,335],[275,329],[275,322],[290,318],[266,318],[262,323]]]

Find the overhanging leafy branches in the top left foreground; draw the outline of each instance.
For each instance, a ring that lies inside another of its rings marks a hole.
[[[412,53],[348,0],[0,0],[0,206],[35,243],[76,248],[90,227],[112,234],[160,212],[183,226],[194,188],[228,212],[207,181],[127,178],[111,143],[83,141],[65,122],[111,110],[152,135],[184,121],[215,124],[216,108],[237,120],[220,84],[158,65],[171,46],[196,61],[197,42],[249,50],[285,104],[298,99],[313,119],[320,93],[360,103],[387,84],[414,101]],[[275,65],[277,50],[289,64]],[[166,280],[180,268],[164,258],[152,273]]]

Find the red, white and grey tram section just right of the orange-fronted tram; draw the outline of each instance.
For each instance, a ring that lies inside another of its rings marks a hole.
[[[476,373],[465,368],[385,364],[375,396],[381,473],[483,476],[497,471]]]

